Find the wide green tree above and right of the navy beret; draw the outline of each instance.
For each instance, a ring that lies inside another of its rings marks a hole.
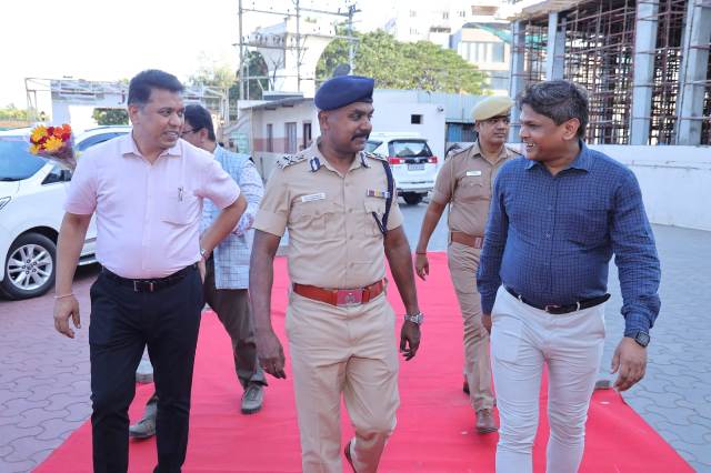
[[[485,93],[485,74],[455,51],[429,41],[400,42],[382,30],[354,33],[358,49],[353,73],[375,79],[383,89],[420,89],[432,92]],[[348,63],[348,40],[332,41],[317,64],[317,82]]]

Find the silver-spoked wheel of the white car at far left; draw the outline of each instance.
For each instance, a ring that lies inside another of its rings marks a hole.
[[[54,284],[57,245],[40,233],[26,233],[8,251],[0,290],[10,299],[42,295]]]

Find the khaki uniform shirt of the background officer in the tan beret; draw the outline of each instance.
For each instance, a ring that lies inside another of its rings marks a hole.
[[[504,145],[497,162],[492,164],[481,153],[479,142],[475,142],[444,161],[434,182],[432,200],[450,204],[450,231],[483,236],[493,180],[507,160],[520,155],[518,151]]]

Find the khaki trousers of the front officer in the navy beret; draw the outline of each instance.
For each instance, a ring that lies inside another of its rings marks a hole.
[[[384,293],[354,308],[289,295],[286,322],[307,473],[341,473],[341,393],[356,437],[359,473],[378,471],[395,426],[398,351]]]

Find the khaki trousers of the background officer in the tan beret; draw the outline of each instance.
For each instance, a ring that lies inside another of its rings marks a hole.
[[[481,250],[455,242],[451,242],[447,251],[449,272],[464,322],[464,374],[475,412],[493,407],[489,333],[481,323],[481,299],[477,290],[480,253]]]

